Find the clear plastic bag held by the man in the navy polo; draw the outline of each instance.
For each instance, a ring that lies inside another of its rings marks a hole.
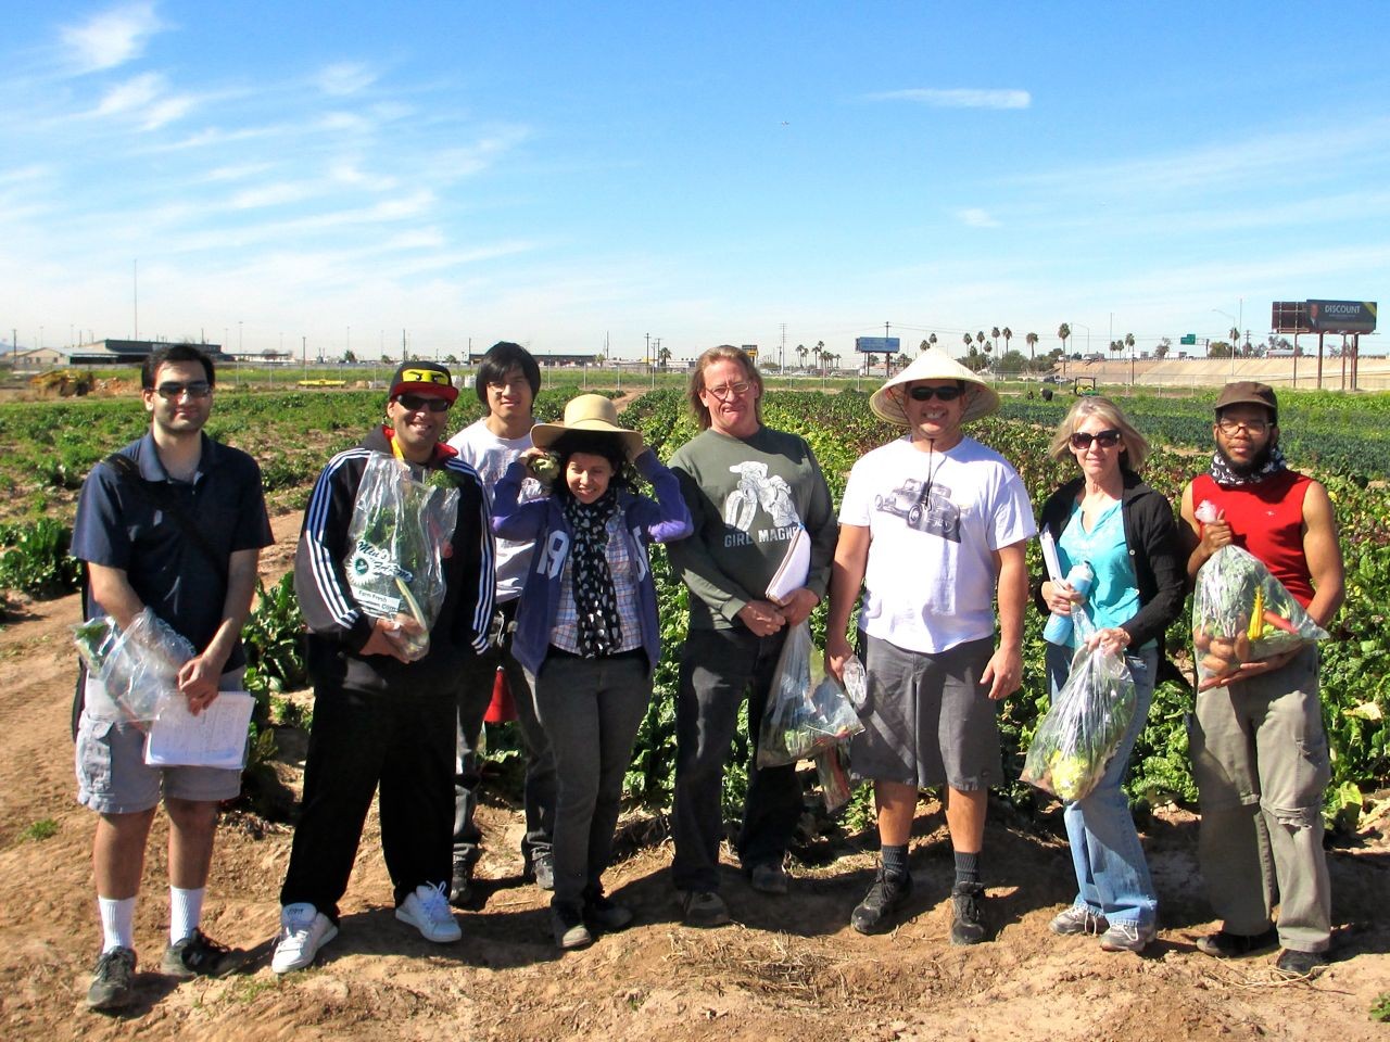
[[[103,615],[74,627],[88,672],[126,720],[149,724],[178,695],[178,671],[197,650],[174,627],[145,609],[124,632]]]

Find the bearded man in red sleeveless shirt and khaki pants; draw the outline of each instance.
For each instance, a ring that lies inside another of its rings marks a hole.
[[[1284,465],[1275,392],[1251,381],[1227,383],[1213,435],[1211,471],[1183,489],[1188,581],[1222,546],[1243,546],[1327,628],[1344,596],[1337,522],[1327,490]],[[1219,520],[1197,520],[1202,502]],[[1188,738],[1202,811],[1198,861],[1223,920],[1197,948],[1229,959],[1277,941],[1276,967],[1311,975],[1327,961],[1332,938],[1322,852],[1332,772],[1316,645],[1247,663],[1226,686],[1201,692]]]

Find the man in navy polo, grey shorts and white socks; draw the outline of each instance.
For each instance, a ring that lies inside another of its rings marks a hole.
[[[213,363],[192,345],[157,349],[140,396],[149,432],[99,463],[82,485],[72,553],[88,563],[89,618],[122,629],[142,613],[185,636],[197,654],[178,674],[197,714],[240,688],[242,624],[256,590],[260,549],[272,542],[260,468],[203,433],[213,411]],[[217,806],[240,792],[240,771],[150,767],[145,732],[88,677],[78,721],[78,800],[101,817],[92,863],[104,942],[88,992],[93,1010],[132,1000],[135,899],[145,845],[163,796],[170,817],[170,946],[160,968],[188,978],[221,974],[236,954],[199,929]]]

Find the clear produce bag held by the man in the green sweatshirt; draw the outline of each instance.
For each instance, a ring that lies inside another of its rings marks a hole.
[[[833,677],[817,682],[810,627],[787,634],[758,735],[758,766],[780,767],[806,760],[863,731],[845,689]]]

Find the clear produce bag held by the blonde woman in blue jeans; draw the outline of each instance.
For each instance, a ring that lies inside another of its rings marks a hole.
[[[1125,656],[1084,646],[1038,724],[1023,781],[1061,800],[1087,796],[1134,718],[1134,678]]]

